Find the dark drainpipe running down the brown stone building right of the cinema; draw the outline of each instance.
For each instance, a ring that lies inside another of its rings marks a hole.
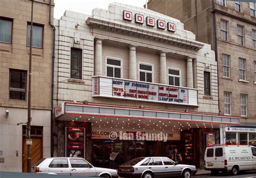
[[[218,110],[220,114],[220,97],[219,97],[219,65],[218,65],[218,44],[217,44],[217,27],[216,27],[216,12],[214,0],[212,0],[212,13],[213,13],[213,31],[214,31],[214,51],[215,51],[215,61],[217,62],[217,74],[218,74]]]

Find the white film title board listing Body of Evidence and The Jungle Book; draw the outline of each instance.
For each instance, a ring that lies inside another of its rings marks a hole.
[[[108,77],[93,77],[92,96],[198,106],[196,89]]]

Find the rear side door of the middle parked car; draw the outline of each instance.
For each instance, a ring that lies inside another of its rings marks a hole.
[[[164,165],[160,158],[152,158],[148,165],[148,168],[152,170],[156,177],[164,177]]]

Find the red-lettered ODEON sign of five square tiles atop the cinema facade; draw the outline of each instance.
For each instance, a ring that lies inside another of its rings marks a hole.
[[[135,22],[138,23],[138,24],[144,24],[144,16],[143,15],[140,15],[138,13],[135,14],[134,16],[135,18]],[[132,12],[129,12],[129,11],[123,11],[123,19],[124,20],[129,20],[129,21],[132,21]],[[154,18],[152,17],[146,17],[146,25],[147,26],[152,26],[154,27]],[[158,29],[162,29],[162,30],[165,30],[166,29],[166,25],[165,25],[165,21],[164,20],[159,20],[157,19],[157,28]],[[173,23],[170,23],[168,22],[167,23],[167,30],[168,31],[171,31],[171,32],[175,32],[176,31],[176,24],[173,24]]]

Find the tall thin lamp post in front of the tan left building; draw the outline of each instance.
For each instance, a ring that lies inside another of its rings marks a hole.
[[[33,0],[31,5],[31,22],[30,22],[30,47],[29,47],[29,96],[28,96],[28,122],[26,124],[26,145],[28,146],[28,156],[26,158],[26,172],[31,173],[31,156],[30,146],[32,141],[30,139],[31,128],[31,68],[32,68],[32,45],[33,45]]]

